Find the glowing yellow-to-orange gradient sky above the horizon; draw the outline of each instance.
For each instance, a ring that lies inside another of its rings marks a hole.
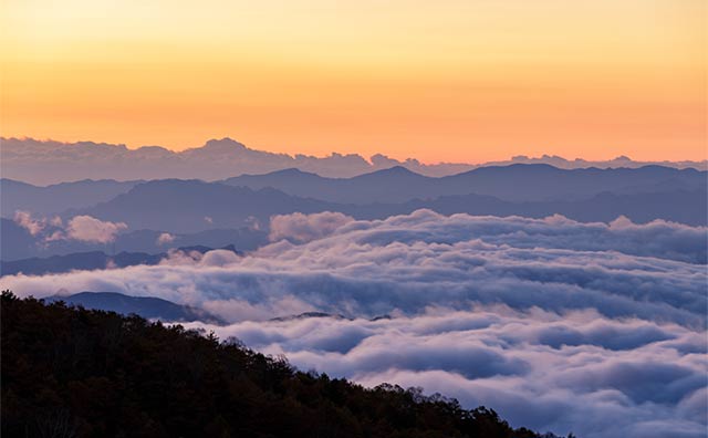
[[[702,0],[3,0],[0,134],[706,159]]]

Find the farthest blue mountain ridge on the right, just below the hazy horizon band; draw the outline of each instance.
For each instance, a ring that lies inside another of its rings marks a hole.
[[[707,171],[663,166],[559,169],[549,165],[480,167],[441,178],[397,166],[353,178],[325,178],[298,169],[228,178],[230,186],[340,204],[405,202],[450,195],[487,195],[508,201],[580,200],[604,191],[618,195],[705,190]]]

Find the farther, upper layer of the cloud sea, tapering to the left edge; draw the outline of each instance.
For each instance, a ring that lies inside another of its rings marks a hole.
[[[304,244],[281,240],[248,257],[175,252],[162,267],[135,267],[127,278],[95,271],[6,282],[17,281],[19,292],[51,294],[59,286],[96,290],[94,282],[110,280],[118,292],[176,301],[185,298],[175,290],[189,286],[199,291],[192,295],[197,305],[292,295],[353,316],[500,303],[705,326],[705,233],[660,221],[617,227],[419,210],[350,221],[331,236]]]

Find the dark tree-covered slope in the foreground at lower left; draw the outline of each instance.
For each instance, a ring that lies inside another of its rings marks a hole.
[[[179,325],[7,291],[1,312],[4,436],[539,437],[487,408],[298,372]]]

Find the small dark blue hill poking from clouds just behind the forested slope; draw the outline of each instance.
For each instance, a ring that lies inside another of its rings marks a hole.
[[[225,323],[221,319],[202,309],[175,304],[171,301],[153,296],[129,296],[117,292],[80,292],[72,295],[53,295],[44,301],[50,303],[63,301],[66,304],[81,305],[84,309],[103,310],[125,315],[134,313],[145,319],[164,322]]]

